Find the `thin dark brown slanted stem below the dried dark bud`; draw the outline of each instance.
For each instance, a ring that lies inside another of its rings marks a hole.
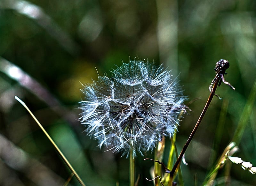
[[[192,138],[194,137],[194,135],[195,135],[195,133],[196,133],[196,130],[198,129],[199,124],[201,123],[201,121],[202,121],[202,119],[203,119],[203,117],[204,117],[204,115],[205,115],[205,113],[206,113],[206,111],[207,111],[207,109],[208,109],[208,107],[209,107],[211,101],[212,101],[213,96],[216,95],[216,94],[215,94],[215,91],[216,91],[216,88],[217,88],[217,86],[218,86],[218,84],[219,84],[219,81],[220,81],[220,77],[216,78],[216,81],[215,81],[215,83],[214,83],[214,85],[213,85],[213,87],[212,87],[212,91],[211,91],[211,93],[210,93],[210,95],[209,95],[209,98],[208,98],[208,100],[207,100],[207,102],[206,102],[206,104],[205,104],[205,106],[204,106],[204,109],[203,109],[201,115],[199,116],[199,118],[198,118],[198,120],[197,120],[197,122],[196,122],[196,125],[195,125],[193,131],[191,132],[191,134],[190,134],[190,136],[189,136],[189,138],[188,138],[186,144],[185,144],[184,147],[182,148],[182,150],[181,150],[181,152],[180,152],[180,155],[179,155],[178,159],[176,160],[176,162],[175,162],[175,164],[174,164],[174,166],[173,166],[173,168],[172,168],[172,171],[171,171],[171,173],[170,173],[170,176],[173,177],[174,174],[176,173],[177,169],[179,168],[179,166],[180,166],[180,161],[181,161],[181,159],[182,159],[182,156],[184,155],[185,151],[186,151],[187,148],[188,148],[189,143],[191,142]]]

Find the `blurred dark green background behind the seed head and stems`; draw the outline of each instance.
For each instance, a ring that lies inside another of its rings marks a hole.
[[[70,171],[27,111],[34,112],[87,186],[129,185],[129,160],[104,152],[77,118],[81,83],[97,79],[129,58],[164,63],[179,76],[189,105],[177,135],[180,152],[209,96],[216,61],[230,62],[182,165],[185,185],[200,185],[230,142],[256,78],[254,0],[0,0],[0,185],[63,185]],[[96,69],[97,71],[96,71]],[[217,123],[222,104],[227,116]],[[234,156],[256,166],[255,108]],[[213,143],[218,146],[213,148]],[[168,144],[167,144],[168,147]],[[166,150],[167,153],[167,150]],[[213,153],[211,155],[211,153]],[[153,153],[145,157],[153,158]],[[138,156],[139,185],[153,185],[151,161]],[[210,158],[211,157],[211,158]],[[164,163],[167,163],[167,157]],[[217,182],[224,185],[225,170]],[[232,165],[230,185],[256,177]],[[70,185],[79,185],[72,178]]]

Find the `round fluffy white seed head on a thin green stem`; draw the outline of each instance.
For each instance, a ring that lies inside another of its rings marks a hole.
[[[131,149],[134,156],[151,152],[163,136],[172,137],[186,98],[163,65],[135,59],[112,73],[84,86],[79,120],[100,147],[127,157]]]

